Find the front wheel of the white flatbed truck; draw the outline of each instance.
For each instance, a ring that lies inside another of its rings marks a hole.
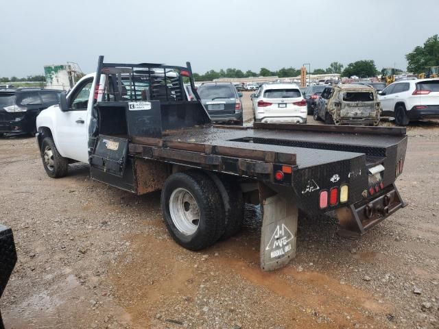
[[[41,143],[41,159],[49,177],[61,178],[67,175],[69,160],[60,155],[51,137],[44,138]]]

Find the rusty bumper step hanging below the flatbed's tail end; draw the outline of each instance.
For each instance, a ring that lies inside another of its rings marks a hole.
[[[335,210],[341,227],[337,234],[356,238],[405,206],[398,189],[392,184],[373,199]]]

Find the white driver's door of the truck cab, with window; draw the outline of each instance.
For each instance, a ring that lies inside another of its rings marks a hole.
[[[67,97],[69,110],[58,117],[56,146],[64,158],[88,162],[87,106],[92,84],[93,77],[80,82]]]

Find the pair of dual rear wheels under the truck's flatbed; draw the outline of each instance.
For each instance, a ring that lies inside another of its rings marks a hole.
[[[235,180],[202,171],[174,173],[161,194],[165,224],[174,241],[200,250],[241,229],[244,200]]]

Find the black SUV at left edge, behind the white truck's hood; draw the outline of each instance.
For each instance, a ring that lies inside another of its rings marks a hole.
[[[36,116],[58,104],[61,90],[42,88],[0,89],[0,136],[36,132]]]

